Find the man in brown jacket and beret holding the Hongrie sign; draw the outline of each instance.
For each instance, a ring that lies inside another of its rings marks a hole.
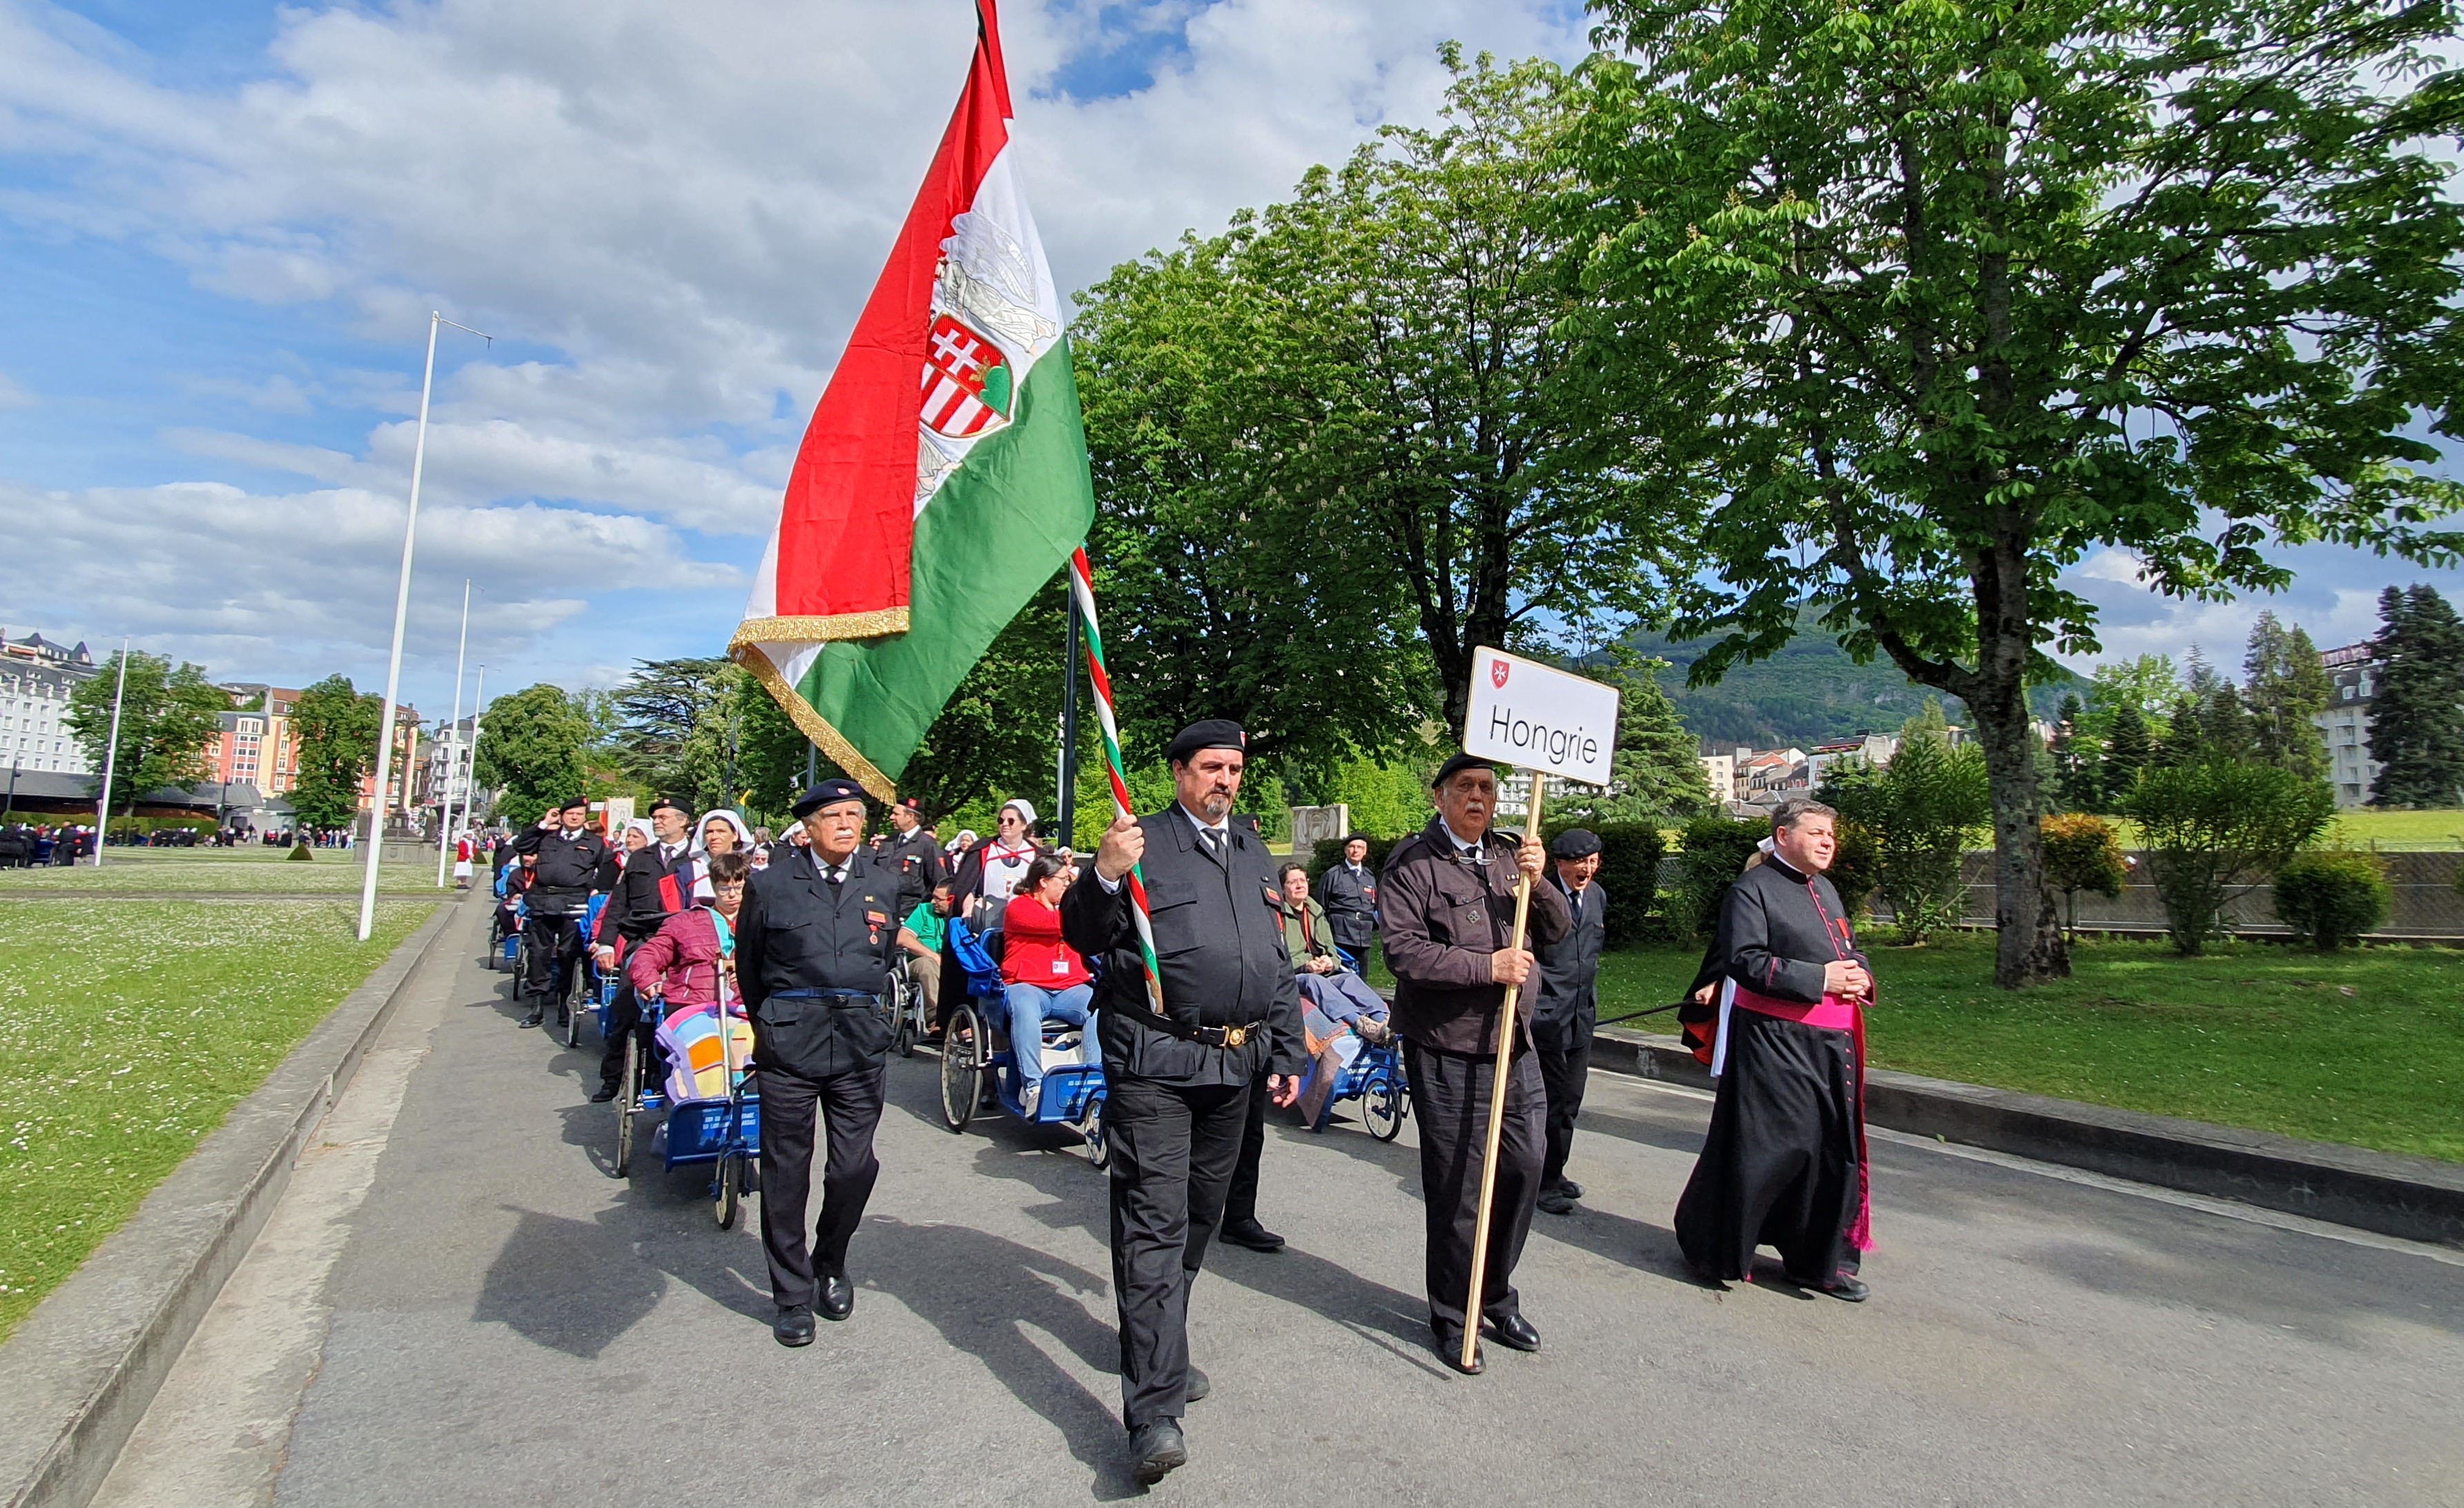
[[[1540,1350],[1540,1331],[1523,1318],[1513,1271],[1540,1198],[1547,1148],[1547,1089],[1530,1050],[1528,991],[1515,1000],[1506,1119],[1498,1126],[1496,1202],[1488,1257],[1481,1269],[1478,1313],[1464,1311],[1471,1289],[1471,1239],[1478,1230],[1481,1153],[1498,1069],[1498,1018],[1508,986],[1533,978],[1530,949],[1513,946],[1515,882],[1533,880],[1530,941],[1565,936],[1565,892],[1542,882],[1547,850],[1538,833],[1491,828],[1498,771],[1486,759],[1456,754],[1432,781],[1437,816],[1387,855],[1377,882],[1377,936],[1395,971],[1392,1025],[1402,1032],[1402,1064],[1419,1121],[1419,1188],[1429,1234],[1429,1333],[1437,1355],[1459,1372],[1478,1372],[1478,1348],[1464,1365],[1464,1328],[1513,1350]]]

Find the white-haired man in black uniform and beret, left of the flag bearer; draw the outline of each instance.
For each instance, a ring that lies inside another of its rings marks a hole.
[[[813,1308],[855,1311],[848,1242],[882,1163],[890,1020],[882,983],[899,946],[899,875],[865,850],[865,791],[823,781],[796,803],[808,843],[756,870],[737,912],[737,988],[754,1020],[761,1094],[761,1249],[781,1345],[813,1343]],[[806,1247],[813,1111],[830,1136],[821,1222]]]

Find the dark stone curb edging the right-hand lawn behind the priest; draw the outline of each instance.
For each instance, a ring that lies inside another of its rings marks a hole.
[[[1710,1089],[1676,1037],[1602,1028],[1592,1064]],[[2464,1247],[2464,1168],[2205,1121],[1873,1069],[1865,1119],[1890,1131],[2203,1193],[2378,1234]]]

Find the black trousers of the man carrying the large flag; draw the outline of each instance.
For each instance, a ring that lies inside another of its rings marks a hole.
[[[761,1106],[764,1114],[769,1106]],[[1121,1306],[1121,1422],[1178,1419],[1190,1387],[1190,1286],[1225,1212],[1249,1084],[1114,1074],[1111,1291]]]

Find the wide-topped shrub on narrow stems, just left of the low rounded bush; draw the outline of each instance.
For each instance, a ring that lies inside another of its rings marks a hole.
[[[2124,803],[2139,823],[2166,934],[2198,954],[2225,934],[2235,885],[2274,875],[2336,816],[2326,781],[2267,764],[2210,759],[2139,776]]]

